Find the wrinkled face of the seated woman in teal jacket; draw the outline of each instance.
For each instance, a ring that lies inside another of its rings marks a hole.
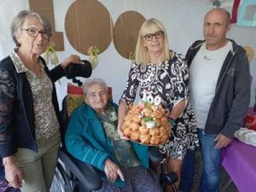
[[[88,87],[84,101],[95,111],[100,112],[108,103],[108,90],[100,83],[94,83]]]

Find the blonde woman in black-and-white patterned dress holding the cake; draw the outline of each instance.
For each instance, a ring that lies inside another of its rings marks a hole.
[[[159,146],[167,154],[168,168],[180,177],[182,159],[188,148],[198,143],[195,115],[189,104],[189,68],[182,54],[170,51],[163,24],[156,19],[141,26],[136,45],[136,59],[118,109],[118,131],[122,138],[122,124],[128,106],[140,97],[161,98],[161,104],[172,124],[172,136]],[[176,183],[179,186],[179,180]]]

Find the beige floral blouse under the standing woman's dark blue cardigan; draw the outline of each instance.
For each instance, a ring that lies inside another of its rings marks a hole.
[[[26,77],[31,86],[35,114],[36,139],[50,138],[58,132],[60,126],[52,104],[52,83],[45,73],[44,65],[40,63],[42,75],[37,76],[24,65],[16,52],[12,52],[10,57],[17,72],[26,73]]]

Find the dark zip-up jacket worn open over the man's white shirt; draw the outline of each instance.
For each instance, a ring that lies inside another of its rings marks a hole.
[[[206,133],[221,133],[228,138],[232,138],[243,123],[250,103],[251,90],[250,67],[246,52],[234,40],[230,41],[233,49],[228,52],[221,67],[205,124]],[[189,66],[203,43],[204,41],[196,41],[189,47],[186,54]]]

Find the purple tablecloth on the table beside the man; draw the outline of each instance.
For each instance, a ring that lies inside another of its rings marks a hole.
[[[256,147],[234,139],[222,150],[221,163],[240,192],[256,191]]]

